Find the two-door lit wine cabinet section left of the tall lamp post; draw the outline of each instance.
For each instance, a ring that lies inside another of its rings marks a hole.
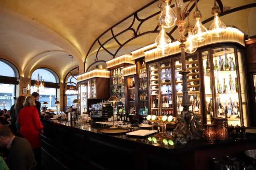
[[[148,64],[150,114],[173,115],[173,96],[170,59]]]

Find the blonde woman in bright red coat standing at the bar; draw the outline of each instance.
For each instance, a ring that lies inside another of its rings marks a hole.
[[[18,116],[20,124],[20,134],[31,144],[35,160],[38,167],[41,166],[41,138],[40,133],[44,133],[43,125],[39,119],[37,108],[35,107],[35,98],[28,96],[24,107],[20,110]]]

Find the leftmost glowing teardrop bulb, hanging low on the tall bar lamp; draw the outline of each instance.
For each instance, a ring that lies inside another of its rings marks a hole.
[[[155,39],[157,50],[161,55],[167,54],[170,51],[169,44],[171,43],[170,37],[166,34],[165,29],[161,27],[157,38]]]

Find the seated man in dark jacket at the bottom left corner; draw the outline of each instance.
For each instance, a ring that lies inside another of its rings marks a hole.
[[[8,126],[0,125],[0,147],[6,147],[9,150],[6,162],[10,170],[28,170],[35,165],[29,141],[15,137]]]

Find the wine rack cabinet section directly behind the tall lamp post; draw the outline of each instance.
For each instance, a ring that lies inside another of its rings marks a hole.
[[[200,77],[199,77],[199,61],[197,55],[188,55],[185,57],[186,68],[190,71],[187,74],[187,87],[189,95],[189,110],[195,114],[202,114],[200,107]],[[181,114],[183,110],[182,105],[182,75],[181,71],[181,58],[175,58],[175,81],[176,81],[176,107],[177,114]]]

